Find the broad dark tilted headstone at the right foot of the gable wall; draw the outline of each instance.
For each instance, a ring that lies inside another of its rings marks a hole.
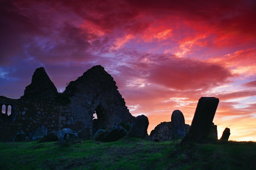
[[[135,118],[135,121],[128,133],[129,137],[145,138],[148,129],[148,118],[147,116],[140,115]]]

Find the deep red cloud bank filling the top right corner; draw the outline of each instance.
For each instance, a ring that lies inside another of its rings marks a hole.
[[[256,3],[254,1],[225,0],[127,0],[132,6],[146,12],[157,15],[159,18],[174,16],[186,19],[188,22],[204,22],[226,33],[237,31],[248,36],[255,37],[256,28]],[[163,12],[164,11],[164,12]],[[194,26],[198,26],[194,24]],[[200,28],[200,27],[198,27]]]

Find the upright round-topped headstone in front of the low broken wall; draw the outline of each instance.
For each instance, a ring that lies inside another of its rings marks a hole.
[[[185,119],[183,113],[179,110],[172,112],[172,139],[182,139],[185,136]]]

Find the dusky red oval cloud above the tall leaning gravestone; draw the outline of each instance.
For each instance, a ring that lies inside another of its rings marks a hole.
[[[230,77],[230,72],[220,65],[174,58],[152,68],[148,79],[168,88],[197,90],[213,88]]]

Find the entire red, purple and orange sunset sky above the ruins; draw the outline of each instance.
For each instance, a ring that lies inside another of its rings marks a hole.
[[[218,138],[256,141],[255,0],[0,0],[0,96],[23,96],[39,67],[63,92],[93,65],[148,134],[177,109],[191,125],[213,96]]]

